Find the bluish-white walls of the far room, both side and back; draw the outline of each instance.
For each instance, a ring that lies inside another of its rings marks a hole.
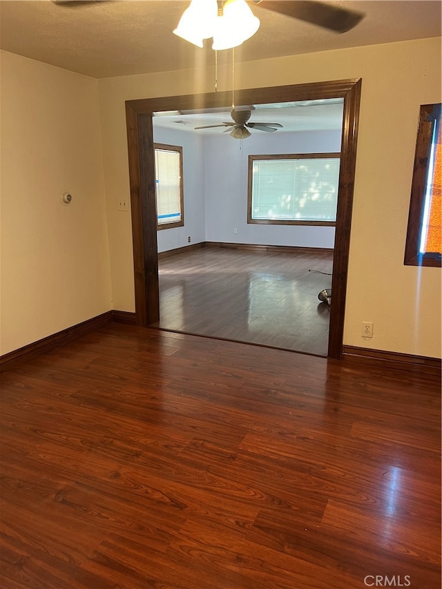
[[[334,247],[334,227],[247,223],[250,154],[339,152],[341,131],[260,133],[238,141],[153,125],[158,143],[180,145],[184,168],[184,226],[157,231],[158,251],[204,241]],[[205,211],[205,214],[204,214]],[[233,233],[233,228],[238,233]]]

